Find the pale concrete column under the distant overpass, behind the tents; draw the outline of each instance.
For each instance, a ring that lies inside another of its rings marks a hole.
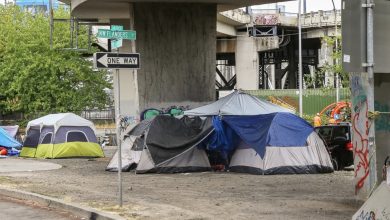
[[[255,43],[252,37],[237,37],[236,76],[238,89],[259,89],[259,55]]]

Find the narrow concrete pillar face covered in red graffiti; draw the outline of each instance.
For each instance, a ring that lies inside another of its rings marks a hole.
[[[370,148],[374,146],[374,138],[369,137],[371,120],[369,119],[367,99],[367,75],[354,74],[351,77],[352,97],[352,129],[355,165],[355,193],[367,194],[374,186],[370,170],[375,161],[370,161]],[[373,171],[372,173],[375,173]]]

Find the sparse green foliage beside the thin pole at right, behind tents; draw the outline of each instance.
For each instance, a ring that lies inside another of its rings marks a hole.
[[[336,47],[336,39],[337,39],[337,47]],[[315,77],[312,78],[310,76],[305,76],[305,82],[309,85],[309,88],[322,88],[325,87],[325,73],[337,73],[340,78],[340,86],[343,88],[349,87],[349,74],[343,70],[342,62],[341,62],[341,36],[337,37],[328,37],[325,36],[322,39],[323,42],[327,43],[330,47],[333,47],[333,52],[331,54],[333,60],[338,60],[339,62],[336,64],[326,63],[324,66],[319,68],[315,74]],[[337,49],[336,49],[337,48]]]

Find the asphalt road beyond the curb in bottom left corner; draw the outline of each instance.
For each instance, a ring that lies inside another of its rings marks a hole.
[[[66,212],[27,204],[20,200],[0,196],[0,219],[3,220],[75,220]]]

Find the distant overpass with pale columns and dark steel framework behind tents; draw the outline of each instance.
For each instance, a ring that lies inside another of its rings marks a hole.
[[[331,54],[333,48],[323,42],[322,38],[335,36],[335,25],[341,25],[341,13],[311,12],[303,14],[301,19],[304,74],[314,76],[316,68],[334,62]],[[234,37],[218,36],[218,88],[297,88],[297,26],[296,13],[253,10],[249,23],[236,26]],[[333,73],[327,73],[325,84],[333,86],[333,77]],[[232,80],[237,83],[232,83]]]

